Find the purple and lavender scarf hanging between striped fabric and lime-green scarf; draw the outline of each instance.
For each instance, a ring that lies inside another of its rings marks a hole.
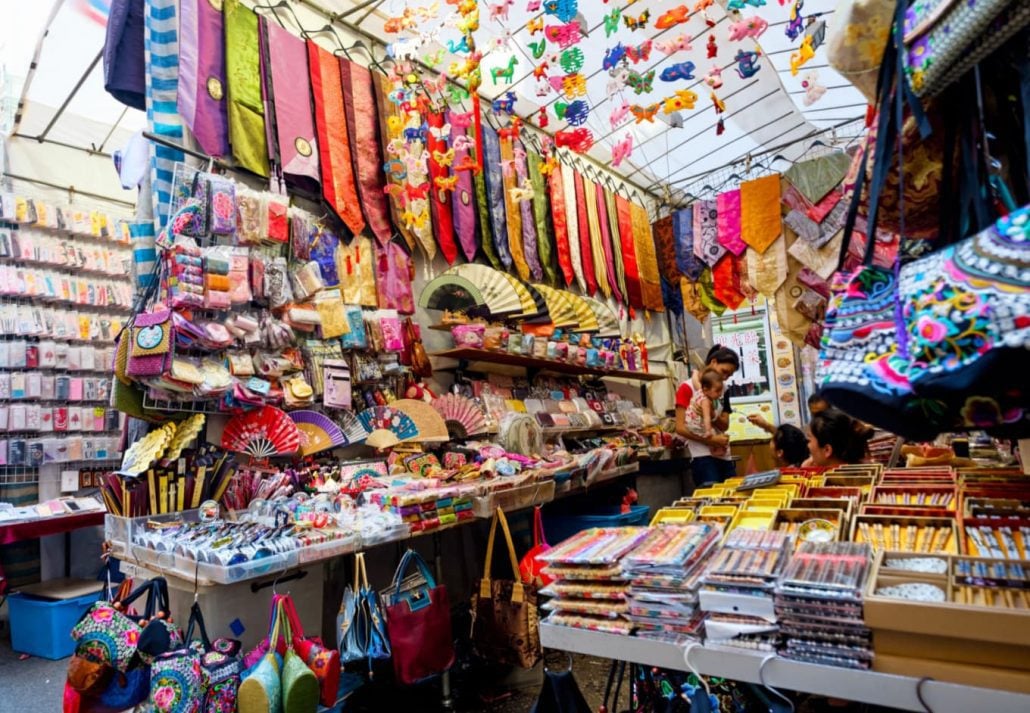
[[[229,155],[225,25],[208,0],[179,2],[178,106],[205,154]]]

